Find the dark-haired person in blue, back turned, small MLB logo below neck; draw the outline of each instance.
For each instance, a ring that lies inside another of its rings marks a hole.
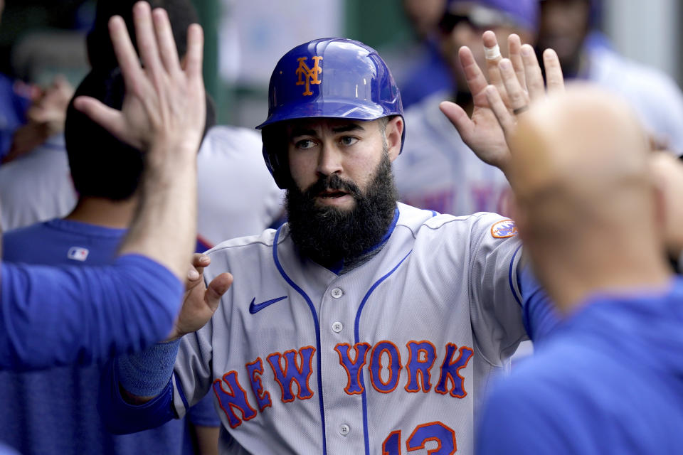
[[[175,26],[189,26],[174,23]],[[184,52],[184,49],[183,49]],[[125,86],[120,69],[93,70],[75,96],[90,96],[121,109]],[[114,262],[139,202],[142,153],[112,137],[70,104],[65,129],[71,176],[79,194],[65,219],[6,232],[4,260],[24,264],[103,265]],[[185,419],[147,432],[115,436],[97,413],[101,368],[61,367],[31,373],[0,373],[5,391],[0,441],[22,454],[193,454],[192,440],[216,453],[220,421],[212,400],[192,407]],[[55,394],[47,383],[58,383]]]

